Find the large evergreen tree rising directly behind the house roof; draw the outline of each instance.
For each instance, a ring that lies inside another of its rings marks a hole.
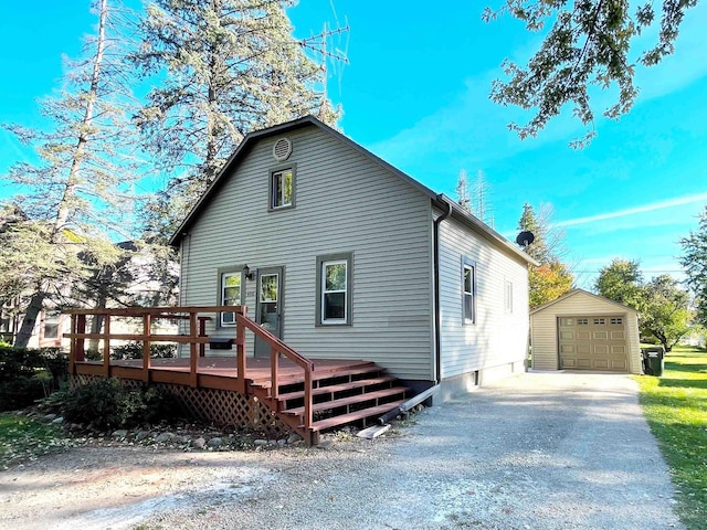
[[[156,0],[148,6],[141,46],[131,59],[159,86],[136,123],[159,168],[172,174],[168,201],[150,208],[168,215],[168,233],[249,131],[308,114],[336,121],[328,102],[323,104],[323,70],[291,34],[285,8],[293,4]]]

